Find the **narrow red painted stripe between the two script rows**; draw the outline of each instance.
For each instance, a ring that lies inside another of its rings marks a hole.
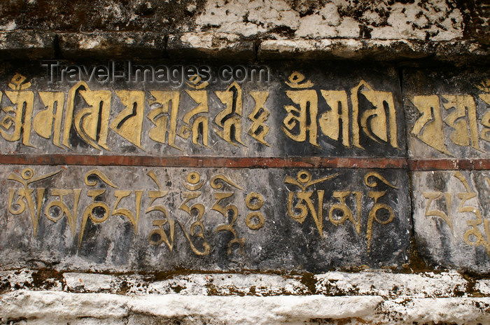
[[[93,165],[151,167],[229,167],[229,168],[394,168],[424,170],[490,170],[489,158],[406,159],[406,158],[222,158],[154,157],[146,155],[0,155],[0,165]]]

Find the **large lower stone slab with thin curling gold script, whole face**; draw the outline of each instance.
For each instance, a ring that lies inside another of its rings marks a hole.
[[[409,258],[405,170],[0,168],[4,268],[321,272]]]

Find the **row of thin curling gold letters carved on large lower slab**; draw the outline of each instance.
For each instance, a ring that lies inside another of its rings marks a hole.
[[[339,242],[332,253],[351,247],[346,256],[355,256],[346,264],[391,261],[381,253],[399,249],[409,231],[405,186],[393,172],[5,167],[0,237],[34,247],[55,240],[76,254],[109,241],[194,258],[253,258],[257,246],[292,254],[311,244],[308,254],[318,254]]]

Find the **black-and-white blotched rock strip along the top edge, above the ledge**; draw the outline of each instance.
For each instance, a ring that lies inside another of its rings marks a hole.
[[[434,39],[485,37],[484,3],[413,1],[10,1],[0,8],[3,30],[213,32],[321,38]],[[18,14],[20,6],[24,6]],[[49,9],[49,10],[47,10]],[[41,15],[40,13],[45,13]],[[71,15],[66,15],[71,13]],[[488,36],[488,35],[486,35]]]

